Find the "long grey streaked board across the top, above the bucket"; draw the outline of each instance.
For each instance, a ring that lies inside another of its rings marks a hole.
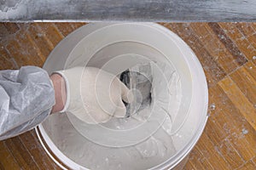
[[[254,0],[10,0],[0,20],[255,21],[255,8]]]

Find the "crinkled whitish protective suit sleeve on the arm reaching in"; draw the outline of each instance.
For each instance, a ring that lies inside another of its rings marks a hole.
[[[55,91],[43,69],[24,66],[0,71],[0,140],[36,127],[53,105]]]

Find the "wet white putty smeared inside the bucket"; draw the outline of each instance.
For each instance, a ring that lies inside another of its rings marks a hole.
[[[59,149],[73,161],[90,169],[146,169],[173,156],[176,149],[172,144],[171,129],[172,119],[175,118],[181,101],[179,77],[172,65],[151,62],[151,67],[152,105],[131,117],[113,118],[110,122],[102,124],[104,128],[121,130],[124,141],[115,141],[114,138],[120,138],[119,134],[105,135],[104,131],[101,131],[102,128],[85,125],[72,114],[67,113],[69,120],[66,115],[59,116],[62,123],[55,126],[56,131],[61,128],[60,130],[67,132],[65,138],[55,138],[55,144]],[[154,116],[158,117],[158,115],[161,115],[162,119],[154,119]],[[153,119],[148,121],[148,116],[153,116]],[[143,130],[136,130],[142,124]],[[132,133],[138,137],[138,140],[125,143],[129,138],[133,138],[131,133],[125,136],[125,130],[131,128],[135,129]],[[92,134],[94,136],[91,136]],[[113,147],[115,145],[113,142],[120,147]],[[128,145],[122,146],[122,144]],[[73,147],[68,147],[69,145]]]

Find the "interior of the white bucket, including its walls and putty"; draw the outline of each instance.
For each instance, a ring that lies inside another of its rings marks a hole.
[[[161,71],[168,65],[165,72],[172,72],[168,116],[155,111],[160,121],[114,136],[125,142],[108,139],[104,126],[91,127],[70,113],[49,116],[40,131],[56,156],[61,152],[64,164],[73,169],[163,168],[174,167],[189,153],[207,120],[207,85],[198,59],[179,37],[156,24],[124,23],[84,26],[64,41],[44,65],[49,74],[86,65],[119,75],[148,61]]]

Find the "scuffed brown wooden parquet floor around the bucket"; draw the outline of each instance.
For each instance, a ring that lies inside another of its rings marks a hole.
[[[44,65],[81,23],[0,24],[0,69]],[[184,169],[256,169],[256,23],[161,23],[194,50],[207,75],[210,115]],[[0,169],[60,169],[34,130],[0,141]]]

